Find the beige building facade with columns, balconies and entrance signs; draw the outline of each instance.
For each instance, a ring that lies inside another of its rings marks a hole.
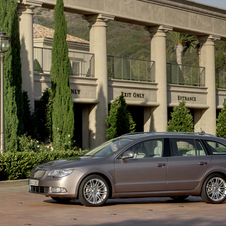
[[[48,38],[33,39],[32,15],[36,6],[52,9],[55,0],[18,0],[18,3],[23,90],[28,91],[34,109],[34,101],[50,86],[47,70],[50,62],[43,61],[41,56],[51,53],[51,42]],[[73,47],[69,45],[72,99],[80,109],[83,148],[95,147],[106,140],[109,104],[121,94],[137,113],[139,122],[142,121],[139,130],[165,131],[168,112],[178,101],[185,100],[193,112],[195,131],[216,133],[216,112],[223,107],[226,90],[216,88],[214,43],[226,40],[225,10],[189,0],[64,0],[64,5],[66,12],[82,14],[90,23],[90,43],[75,41],[71,42]],[[139,24],[147,29],[151,61],[134,63],[132,59],[107,56],[109,20]],[[198,37],[199,67],[185,70],[182,65],[167,64],[166,34],[172,30]],[[34,70],[35,59],[36,63],[42,62],[41,71]],[[137,64],[142,70],[136,68]],[[121,72],[117,71],[118,65]],[[130,73],[124,72],[123,65],[129,65]]]

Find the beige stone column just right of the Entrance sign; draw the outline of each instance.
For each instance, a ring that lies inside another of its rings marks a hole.
[[[216,134],[216,82],[215,82],[215,44],[220,37],[200,36],[199,66],[205,67],[205,86],[207,89],[207,110],[197,111],[195,131]]]

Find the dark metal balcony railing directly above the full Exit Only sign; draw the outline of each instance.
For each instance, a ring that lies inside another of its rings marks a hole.
[[[108,56],[108,78],[155,82],[155,62]]]

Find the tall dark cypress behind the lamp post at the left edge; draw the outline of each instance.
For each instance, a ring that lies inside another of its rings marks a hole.
[[[0,27],[11,37],[11,45],[5,53],[5,146],[6,150],[18,149],[18,135],[23,134],[23,94],[20,61],[19,22],[16,0],[0,1]]]

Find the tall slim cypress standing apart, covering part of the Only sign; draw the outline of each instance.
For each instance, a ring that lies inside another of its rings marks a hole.
[[[52,138],[53,146],[69,148],[74,131],[74,111],[69,84],[67,23],[63,0],[54,8],[55,32],[50,70],[52,85]]]

